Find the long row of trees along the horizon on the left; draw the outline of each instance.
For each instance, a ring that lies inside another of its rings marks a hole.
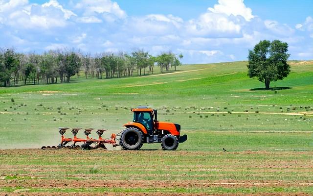
[[[163,52],[152,56],[137,49],[131,53],[105,52],[96,55],[74,50],[49,50],[42,54],[19,53],[13,48],[0,49],[0,86],[39,84],[40,82],[70,82],[73,75],[85,73],[86,79],[119,78],[153,74],[155,66],[160,72],[174,70],[181,65],[182,54]]]

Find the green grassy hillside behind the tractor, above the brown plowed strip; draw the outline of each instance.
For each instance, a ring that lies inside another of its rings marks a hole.
[[[246,63],[187,65],[166,74],[101,80],[81,76],[70,84],[0,88],[0,148],[57,145],[60,126],[119,132],[132,120],[132,107],[149,105],[159,110],[160,121],[179,123],[189,135],[180,149],[220,150],[226,145],[233,150],[312,149],[313,62],[291,62],[288,78],[271,83],[278,89],[288,87],[276,93],[255,90],[264,84],[248,78]]]

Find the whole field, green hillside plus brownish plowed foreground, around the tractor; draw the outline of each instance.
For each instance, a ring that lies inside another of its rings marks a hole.
[[[159,144],[142,148],[157,150],[135,152],[1,150],[0,192],[313,194],[313,61],[290,62],[291,74],[270,85],[276,91],[260,90],[264,83],[247,76],[246,63],[184,65],[176,72],[130,78],[82,75],[69,84],[0,88],[2,149],[56,146],[61,126],[107,128],[109,137],[132,121],[131,108],[138,105],[158,109],[158,120],[179,123],[188,135],[170,152]],[[51,179],[71,185],[72,180],[147,184],[33,186]],[[169,185],[148,186],[162,180]],[[14,186],[5,185],[10,182]]]

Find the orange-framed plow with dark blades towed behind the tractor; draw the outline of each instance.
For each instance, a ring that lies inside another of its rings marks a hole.
[[[60,149],[60,148],[70,148],[70,149],[84,149],[84,150],[89,150],[89,149],[95,149],[95,148],[103,148],[107,149],[105,147],[105,144],[112,144],[113,147],[117,146],[116,145],[116,135],[114,133],[111,134],[111,138],[103,139],[102,135],[105,131],[108,129],[98,129],[96,133],[98,134],[99,138],[98,139],[93,139],[89,137],[89,134],[93,130],[93,128],[87,128],[84,131],[84,134],[86,135],[86,138],[78,138],[76,135],[79,130],[82,128],[72,128],[71,132],[73,134],[73,138],[66,138],[64,134],[67,131],[67,127],[60,127],[59,128],[59,133],[61,134],[61,143],[55,147],[55,146],[43,146],[41,149]],[[68,143],[72,143],[71,145],[67,145]],[[76,145],[77,143],[83,143],[81,146]]]

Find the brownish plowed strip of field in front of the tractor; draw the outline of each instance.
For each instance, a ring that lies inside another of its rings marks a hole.
[[[0,150],[0,195],[309,196],[312,157],[311,151]]]

